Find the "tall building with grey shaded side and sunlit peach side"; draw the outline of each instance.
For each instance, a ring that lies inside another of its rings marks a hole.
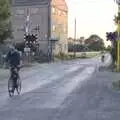
[[[49,40],[58,39],[54,51],[67,52],[68,9],[65,0],[12,0],[12,23],[15,42],[25,33],[38,35],[40,49],[47,53]]]

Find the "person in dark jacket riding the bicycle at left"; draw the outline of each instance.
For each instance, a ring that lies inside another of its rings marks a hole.
[[[17,49],[15,49],[14,46],[9,46],[9,48],[10,48],[10,50],[7,53],[6,61],[10,65],[10,72],[11,72],[10,78],[12,77],[12,73],[13,73],[14,68],[17,68],[18,78],[20,78],[19,77],[20,53],[17,51]]]

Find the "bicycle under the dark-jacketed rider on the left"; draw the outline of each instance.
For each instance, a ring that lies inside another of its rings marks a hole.
[[[18,95],[21,93],[21,80],[18,71],[19,70],[17,67],[11,68],[11,76],[8,80],[8,92],[10,97],[14,96],[15,90],[17,91]]]

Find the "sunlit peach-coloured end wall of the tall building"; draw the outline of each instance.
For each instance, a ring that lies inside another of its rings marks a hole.
[[[65,0],[52,0],[52,31],[51,36],[58,39],[55,51],[68,52],[68,7]]]

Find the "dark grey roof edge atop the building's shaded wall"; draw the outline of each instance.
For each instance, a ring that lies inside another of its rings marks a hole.
[[[51,0],[12,0],[12,6],[33,6],[48,4]]]

